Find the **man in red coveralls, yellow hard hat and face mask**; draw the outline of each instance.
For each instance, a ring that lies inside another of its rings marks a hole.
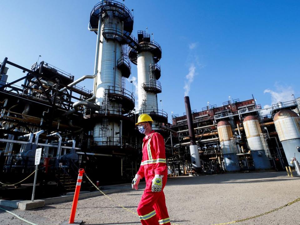
[[[138,130],[145,134],[143,158],[132,188],[138,190],[140,180],[145,177],[146,188],[138,204],[138,216],[143,225],[171,225],[163,188],[167,183],[168,169],[163,136],[152,130],[153,120],[148,114],[138,117]]]

